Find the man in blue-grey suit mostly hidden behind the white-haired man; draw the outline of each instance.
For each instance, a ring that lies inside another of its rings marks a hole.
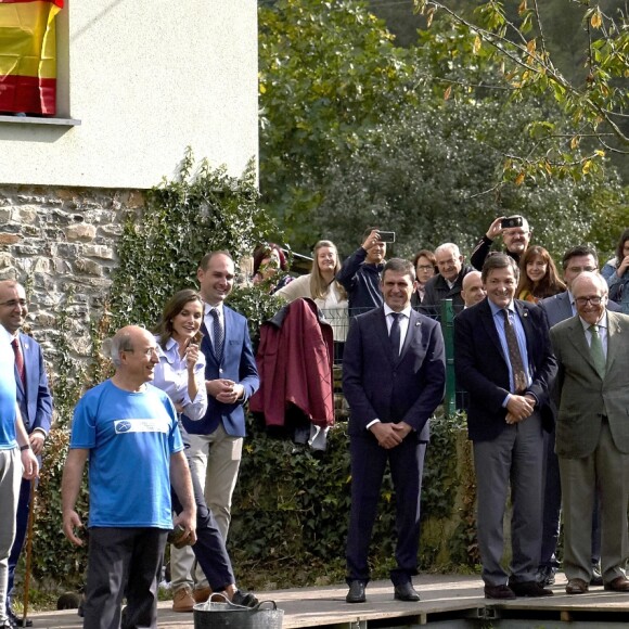
[[[556,325],[561,321],[570,319],[577,313],[575,299],[573,297],[573,282],[585,271],[595,272],[599,267],[596,252],[589,246],[578,245],[569,248],[562,259],[564,270],[564,282],[567,291],[547,297],[539,303],[539,307],[544,311],[549,328]],[[607,305],[612,311],[620,311],[614,303]],[[560,464],[555,453],[555,432],[554,426],[551,433],[544,435],[544,489],[543,489],[543,521],[541,553],[539,559],[539,570],[537,580],[543,586],[554,583],[554,575],[559,567],[556,548],[560,538],[560,514],[562,506],[562,489],[560,482]],[[599,568],[601,561],[601,526],[600,506],[594,508],[592,514],[592,580],[591,586],[602,586],[603,577]]]

